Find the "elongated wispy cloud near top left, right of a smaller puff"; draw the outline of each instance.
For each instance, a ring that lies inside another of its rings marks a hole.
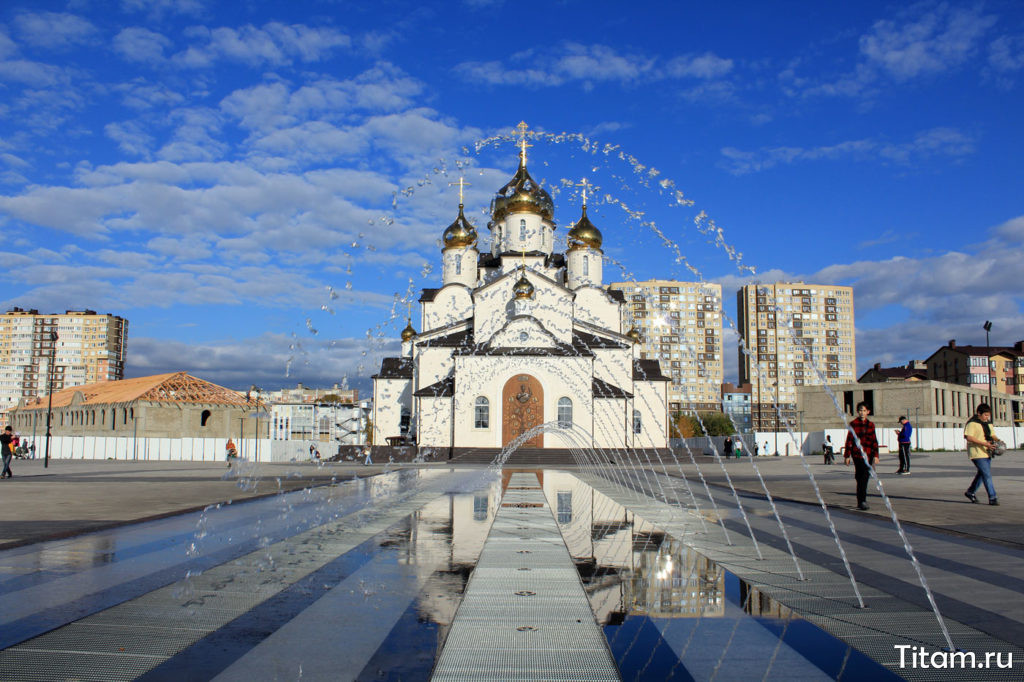
[[[178,63],[206,68],[218,59],[249,65],[289,65],[295,60],[313,62],[338,48],[351,45],[351,39],[336,29],[311,28],[301,24],[266,24],[262,29],[247,25],[241,29],[194,27],[186,36],[199,44],[174,55]]]

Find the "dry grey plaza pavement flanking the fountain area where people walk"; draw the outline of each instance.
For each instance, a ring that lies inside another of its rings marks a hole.
[[[696,467],[686,454],[679,462],[654,461],[650,468],[679,476],[682,471],[698,483]],[[700,473],[714,485],[726,486],[723,466],[703,454],[694,454]],[[817,505],[804,463],[796,457],[759,457],[759,468],[771,494],[780,500]],[[852,509],[853,467],[825,466],[820,456],[806,458],[821,496],[829,506]],[[446,463],[393,465],[446,466]],[[0,480],[0,549],[104,527],[160,518],[207,505],[243,501],[324,485],[332,480],[380,473],[386,466],[351,463],[241,463],[236,474],[225,476],[223,463],[125,462],[91,460],[16,460],[14,477]],[[732,484],[739,491],[762,495],[751,458],[724,462]],[[572,469],[558,465],[557,468]],[[990,507],[984,489],[973,505],[964,491],[974,476],[974,466],[964,453],[914,453],[912,473],[898,476],[894,456],[879,466],[882,485],[901,521],[979,540],[1024,546],[1024,452],[1010,451],[993,462],[998,507]],[[873,481],[868,484],[870,511],[860,514],[889,518]]]

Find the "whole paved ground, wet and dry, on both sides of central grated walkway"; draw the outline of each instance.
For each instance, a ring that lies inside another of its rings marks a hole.
[[[784,534],[749,460],[541,471],[531,511],[557,524],[623,679],[1022,679],[1017,459],[996,463],[1000,507],[955,501],[970,479],[955,455],[919,456],[909,477],[882,467],[921,574],[881,501],[849,510],[852,473],[813,460],[841,543],[794,458],[756,461]],[[0,485],[16,510],[0,549],[5,680],[428,679],[502,500],[483,467],[16,465]],[[525,542],[536,524],[521,524]],[[54,535],[69,537],[34,542]],[[954,646],[1017,665],[900,668],[895,646],[944,637],[922,576]],[[496,660],[514,649],[502,640]]]

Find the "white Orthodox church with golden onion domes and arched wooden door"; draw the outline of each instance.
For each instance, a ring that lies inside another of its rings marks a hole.
[[[441,286],[420,296],[401,356],[374,375],[374,443],[449,452],[668,445],[668,383],[639,357],[621,292],[602,282],[600,230],[582,213],[554,253],[551,196],[519,168],[490,203],[490,251],[463,212],[443,232]],[[543,426],[542,426],[543,425]],[[541,428],[538,428],[541,427]]]

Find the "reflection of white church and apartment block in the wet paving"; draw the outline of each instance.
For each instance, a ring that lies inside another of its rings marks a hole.
[[[548,470],[540,478],[598,623],[615,625],[632,615],[726,615],[728,573],[716,562],[569,473]],[[423,622],[440,626],[439,642],[486,541],[500,495],[497,484],[475,495],[447,495],[410,519],[409,563],[432,568],[417,610]],[[440,565],[424,560],[441,556]],[[752,615],[793,616],[742,581],[734,601],[737,596]]]

